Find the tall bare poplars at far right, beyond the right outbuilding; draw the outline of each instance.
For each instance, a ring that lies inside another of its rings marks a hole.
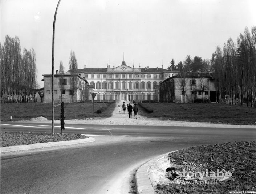
[[[220,94],[220,102],[225,103],[229,95],[229,104],[240,104],[256,107],[256,27],[245,28],[236,43],[229,38],[221,48],[219,45],[212,54],[212,68],[215,73],[215,87]]]

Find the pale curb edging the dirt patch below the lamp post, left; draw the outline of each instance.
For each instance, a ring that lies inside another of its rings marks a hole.
[[[68,146],[68,145],[77,145],[81,143],[90,143],[94,142],[95,139],[92,137],[86,139],[75,139],[69,141],[60,141],[60,142],[48,142],[48,143],[34,143],[29,145],[20,145],[20,146],[9,146],[9,147],[1,147],[0,152],[7,153],[13,151],[24,151],[24,150],[33,150],[44,147],[57,147],[57,146]]]

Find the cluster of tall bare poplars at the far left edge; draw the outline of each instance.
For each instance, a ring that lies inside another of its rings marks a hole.
[[[1,43],[1,97],[11,94],[33,95],[37,87],[36,53],[21,52],[18,36],[5,36]]]

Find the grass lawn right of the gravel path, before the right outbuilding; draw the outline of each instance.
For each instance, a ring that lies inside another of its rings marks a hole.
[[[146,113],[139,108],[139,114],[163,120],[212,122],[218,124],[254,125],[256,108],[240,105],[216,103],[143,103],[143,107],[153,109]]]

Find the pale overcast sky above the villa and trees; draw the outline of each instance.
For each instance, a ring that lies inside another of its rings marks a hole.
[[[58,0],[1,0],[5,35],[36,52],[38,83],[52,72],[53,18]],[[219,44],[235,42],[256,26],[255,0],[61,0],[55,28],[55,69],[68,70],[70,50],[78,68],[121,65],[163,68],[186,55],[211,59]]]

